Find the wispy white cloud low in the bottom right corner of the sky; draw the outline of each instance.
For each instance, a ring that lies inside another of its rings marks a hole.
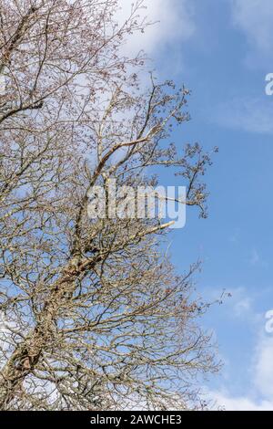
[[[230,371],[234,372],[234,362],[231,360],[225,366],[225,382],[217,389],[207,392],[207,399],[211,401],[215,409],[226,409],[228,411],[273,411],[273,335],[266,332],[265,314],[255,309],[259,297],[258,290],[248,290],[248,288],[227,289],[232,298],[227,301],[227,320],[238,319],[238,332],[235,335],[242,335],[240,328],[246,333],[247,328],[251,329],[253,339],[249,344],[247,361],[240,361],[237,377],[242,378],[248,374],[248,385],[242,382],[238,392],[230,379]],[[264,291],[266,292],[266,291]],[[268,291],[267,291],[268,293]],[[266,295],[265,295],[266,296]],[[260,297],[259,297],[260,298]],[[250,335],[250,330],[249,330]],[[241,356],[246,359],[243,353]],[[227,360],[225,360],[227,361]],[[242,392],[244,390],[245,392]]]

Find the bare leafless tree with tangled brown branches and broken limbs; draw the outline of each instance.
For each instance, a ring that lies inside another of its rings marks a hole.
[[[155,185],[173,167],[206,215],[209,157],[168,144],[188,91],[126,58],[146,26],[116,0],[0,0],[0,408],[102,410],[197,406],[217,370],[198,327],[190,267],[178,277],[157,219],[89,219],[89,193]],[[144,84],[143,86],[146,86]]]

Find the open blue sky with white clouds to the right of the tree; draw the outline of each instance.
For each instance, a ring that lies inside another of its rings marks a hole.
[[[225,362],[207,382],[207,394],[228,410],[273,410],[273,336],[265,331],[265,313],[273,309],[273,96],[265,93],[265,77],[273,72],[273,2],[147,5],[160,24],[130,49],[144,47],[160,78],[192,90],[192,120],[177,131],[177,143],[219,147],[206,178],[209,217],[188,211],[186,227],[172,233],[171,250],[180,271],[203,260],[197,289],[207,299],[223,289],[232,294],[203,319]]]

